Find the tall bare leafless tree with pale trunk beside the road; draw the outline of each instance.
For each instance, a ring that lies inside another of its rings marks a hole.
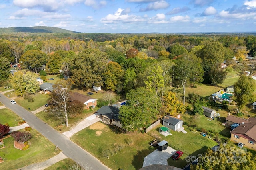
[[[54,116],[62,119],[68,127],[68,109],[72,107],[70,102],[70,89],[72,87],[72,81],[59,80],[56,85],[53,86],[53,91],[50,95],[50,113]]]

